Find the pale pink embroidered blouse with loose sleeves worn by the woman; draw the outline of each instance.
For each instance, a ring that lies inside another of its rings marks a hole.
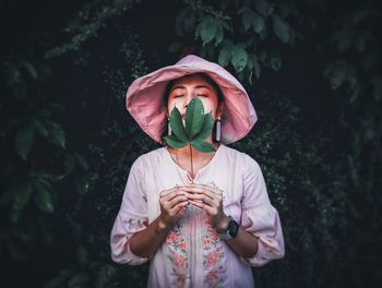
[[[258,253],[251,259],[236,254],[219,239],[208,215],[193,205],[179,213],[176,225],[152,257],[131,252],[131,237],[160,214],[159,193],[190,182],[188,171],[174,161],[166,148],[140,156],[131,167],[111,230],[111,259],[130,265],[151,261],[147,287],[253,287],[251,266],[284,256],[283,230],[259,164],[225,145],[198,171],[194,182],[223,190],[225,214],[258,237]]]

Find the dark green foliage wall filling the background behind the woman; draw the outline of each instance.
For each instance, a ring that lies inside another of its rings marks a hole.
[[[144,287],[110,260],[132,161],[157,145],[130,83],[193,51],[241,80],[286,256],[258,287],[380,287],[378,1],[0,1],[2,287]]]

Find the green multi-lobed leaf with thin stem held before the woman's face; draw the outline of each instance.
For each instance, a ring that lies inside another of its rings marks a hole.
[[[190,146],[191,173],[193,177],[192,147],[204,153],[215,151],[210,142],[204,141],[212,133],[214,128],[212,112],[204,113],[203,103],[195,97],[187,107],[184,125],[177,107],[174,107],[171,110],[169,121],[172,134],[166,135],[164,139],[172,148],[182,148],[186,145]]]

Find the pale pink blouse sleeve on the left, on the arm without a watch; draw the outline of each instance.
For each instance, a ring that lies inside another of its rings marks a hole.
[[[124,189],[122,204],[115,220],[110,248],[112,261],[120,264],[140,265],[148,261],[130,250],[131,237],[148,226],[147,201],[144,193],[144,173],[141,159],[132,165]]]

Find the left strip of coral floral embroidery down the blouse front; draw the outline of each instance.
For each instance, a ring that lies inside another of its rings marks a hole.
[[[187,278],[187,248],[189,244],[182,237],[180,228],[181,226],[177,221],[166,237],[169,251],[168,259],[174,264],[171,287],[183,287]]]

